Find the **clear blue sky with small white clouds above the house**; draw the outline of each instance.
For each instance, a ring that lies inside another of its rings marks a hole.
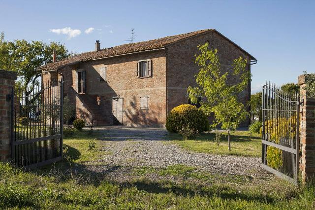
[[[264,80],[281,85],[315,71],[311,0],[0,0],[0,20],[8,40],[59,41],[78,53],[96,39],[101,48],[127,43],[131,28],[135,41],[214,28],[258,60],[252,92]]]

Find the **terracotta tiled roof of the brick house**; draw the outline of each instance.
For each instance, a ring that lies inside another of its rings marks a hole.
[[[167,46],[168,44],[175,43],[179,40],[183,40],[186,38],[189,38],[194,35],[200,35],[202,33],[206,33],[209,31],[214,31],[221,35],[219,32],[217,32],[214,29],[206,29],[206,30],[200,30],[196,32],[190,32],[187,34],[181,34],[181,35],[172,35],[172,36],[166,36],[163,38],[158,38],[158,39],[153,39],[149,41],[141,41],[141,42],[136,42],[136,43],[130,43],[130,44],[123,44],[115,47],[110,47],[110,48],[105,48],[101,49],[99,51],[91,51],[91,52],[85,52],[81,53],[69,58],[65,58],[63,60],[57,61],[55,63],[50,63],[47,65],[43,65],[39,67],[39,70],[53,70],[53,69],[60,69],[68,65],[84,62],[84,61],[89,61],[93,59],[98,59],[98,58],[106,58],[110,56],[115,56],[115,55],[122,55],[126,53],[132,53],[132,52],[139,52],[139,51],[144,51],[144,50],[150,50],[150,49],[158,49]],[[223,36],[223,35],[221,35]],[[223,36],[226,38],[225,36]],[[229,40],[228,38],[226,38]],[[232,42],[231,40],[229,40]],[[236,45],[234,42],[232,42],[234,45]],[[238,48],[240,48],[238,45],[236,45]],[[247,53],[245,50],[240,48],[242,51]],[[247,53],[250,57],[252,57],[249,53]],[[252,57],[252,59],[254,59]]]

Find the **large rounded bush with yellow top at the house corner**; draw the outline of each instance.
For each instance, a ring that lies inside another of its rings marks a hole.
[[[183,127],[189,127],[199,133],[209,131],[209,121],[203,111],[194,105],[179,105],[171,110],[166,119],[166,129],[178,133]]]

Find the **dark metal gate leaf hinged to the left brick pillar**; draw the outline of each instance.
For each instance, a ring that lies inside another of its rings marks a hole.
[[[12,90],[11,160],[35,168],[62,160],[63,80]]]

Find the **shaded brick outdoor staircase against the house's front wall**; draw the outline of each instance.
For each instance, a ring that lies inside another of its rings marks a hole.
[[[104,111],[99,105],[97,105],[97,96],[87,95],[87,94],[78,94],[77,95],[80,101],[88,109],[92,115],[94,126],[103,126],[109,125],[109,121],[104,114]]]

